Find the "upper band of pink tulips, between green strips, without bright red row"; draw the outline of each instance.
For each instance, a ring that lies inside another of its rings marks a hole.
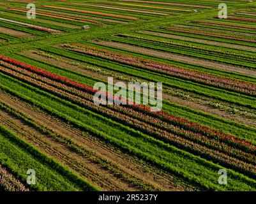
[[[158,71],[173,77],[185,78],[194,82],[199,82],[222,89],[227,89],[230,91],[236,91],[243,94],[256,96],[256,84],[252,82],[245,82],[241,80],[236,80],[234,78],[221,77],[187,68],[180,68],[162,62],[151,61],[132,55],[121,54],[103,48],[91,47],[88,45],[77,45],[74,43],[69,43],[64,44],[62,47],[67,50],[72,50],[83,54],[89,54],[104,59],[110,59],[112,61],[122,62],[124,64],[136,66],[139,68],[146,68],[151,71]]]

